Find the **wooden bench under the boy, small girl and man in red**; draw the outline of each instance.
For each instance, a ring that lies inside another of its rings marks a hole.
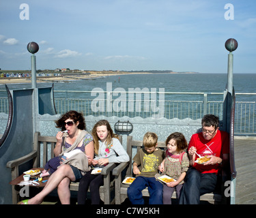
[[[122,204],[127,196],[127,189],[129,185],[123,184],[122,181],[126,177],[134,177],[132,174],[132,149],[141,149],[142,147],[142,141],[139,140],[132,140],[132,136],[127,137],[127,153],[130,157],[130,161],[126,163],[120,163],[119,166],[117,166],[113,170],[113,175],[115,176],[115,204]],[[165,142],[158,142],[158,148],[160,149],[166,149]],[[127,169],[127,170],[126,170]],[[126,175],[122,176],[123,170],[126,170]],[[143,189],[142,195],[145,197],[150,196],[149,192],[146,189]],[[174,191],[172,198],[176,198],[176,193]],[[219,204],[221,203],[222,196],[220,193],[206,193],[203,196],[201,196],[200,200],[208,201],[210,203]]]

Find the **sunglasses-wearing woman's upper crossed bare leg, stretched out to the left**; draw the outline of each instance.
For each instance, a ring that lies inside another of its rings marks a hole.
[[[44,200],[44,197],[48,195],[48,193],[51,193],[58,185],[61,183],[61,181],[68,177],[70,181],[74,181],[74,172],[72,168],[68,164],[64,164],[60,166],[48,179],[48,182],[46,183],[44,189],[40,191],[36,196],[29,199],[28,204],[40,204],[42,200]],[[67,182],[66,182],[67,184]],[[69,185],[69,184],[68,184]],[[67,185],[67,187],[68,187]]]

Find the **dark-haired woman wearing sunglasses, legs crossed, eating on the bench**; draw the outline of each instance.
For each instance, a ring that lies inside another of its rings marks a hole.
[[[70,204],[70,182],[79,181],[90,170],[89,166],[94,157],[94,139],[85,131],[83,114],[70,110],[55,123],[57,128],[61,128],[56,135],[57,143],[53,150],[55,157],[65,156],[64,153],[75,150],[82,152],[77,152],[66,160],[62,159],[61,166],[56,171],[53,170],[44,189],[33,198],[18,204],[40,204],[56,187],[61,204]],[[65,130],[67,132],[63,132]]]

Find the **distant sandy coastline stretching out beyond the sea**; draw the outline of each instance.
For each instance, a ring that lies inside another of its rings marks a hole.
[[[0,74],[7,74],[13,72],[28,72],[28,71],[4,71]],[[86,71],[86,72],[60,72],[59,76],[37,76],[36,82],[69,82],[72,80],[93,80],[102,76],[118,76],[118,75],[132,75],[132,74],[197,74],[196,72],[173,72],[171,70],[150,70],[150,71]],[[31,77],[0,77],[0,84],[13,83],[30,83]]]

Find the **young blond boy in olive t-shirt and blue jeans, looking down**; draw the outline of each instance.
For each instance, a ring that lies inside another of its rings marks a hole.
[[[133,173],[136,179],[127,189],[127,195],[132,204],[144,204],[141,191],[148,188],[149,204],[162,204],[162,183],[156,181],[158,166],[165,158],[161,149],[156,148],[158,136],[147,132],[143,137],[143,148],[133,158]]]

